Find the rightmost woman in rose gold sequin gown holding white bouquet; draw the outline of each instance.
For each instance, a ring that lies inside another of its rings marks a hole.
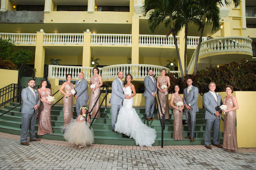
[[[226,113],[224,119],[224,137],[223,137],[223,148],[226,151],[230,152],[231,150],[237,150],[237,137],[236,137],[236,113],[235,110],[238,109],[238,104],[233,93],[233,87],[228,85],[226,86],[227,96],[224,97],[223,104],[227,106],[226,110],[223,112]]]

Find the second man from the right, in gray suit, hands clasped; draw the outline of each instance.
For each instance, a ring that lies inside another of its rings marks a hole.
[[[193,142],[195,137],[196,112],[199,111],[196,103],[198,99],[198,88],[192,85],[193,81],[190,77],[187,78],[186,83],[188,87],[183,91],[183,103],[190,135],[185,138]]]

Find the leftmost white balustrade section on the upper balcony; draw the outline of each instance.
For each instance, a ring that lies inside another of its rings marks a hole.
[[[36,44],[36,34],[29,33],[0,33],[0,38],[15,44]]]

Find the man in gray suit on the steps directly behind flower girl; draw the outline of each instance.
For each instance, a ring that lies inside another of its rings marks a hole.
[[[80,72],[78,74],[79,80],[76,81],[75,90],[76,94],[76,113],[77,117],[80,115],[80,107],[87,106],[89,100],[88,95],[88,82],[84,79],[84,73]]]

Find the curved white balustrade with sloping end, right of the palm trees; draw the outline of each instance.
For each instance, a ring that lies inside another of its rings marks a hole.
[[[195,65],[197,47],[188,64],[187,72],[190,74]],[[199,56],[216,52],[242,51],[252,53],[252,40],[246,37],[221,37],[206,40],[201,43]]]

